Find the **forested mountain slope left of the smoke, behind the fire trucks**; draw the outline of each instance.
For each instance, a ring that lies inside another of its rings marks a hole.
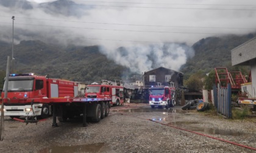
[[[12,45],[0,42],[0,69],[5,70],[7,56],[12,56]],[[52,78],[64,78],[73,81],[121,80],[129,69],[108,60],[99,53],[98,46],[62,49],[41,41],[21,41],[14,47],[15,72],[34,72],[37,75],[49,74]]]

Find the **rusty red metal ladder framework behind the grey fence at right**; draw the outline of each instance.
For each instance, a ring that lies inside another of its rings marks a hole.
[[[221,87],[227,87],[230,83],[232,89],[241,89],[241,84],[247,83],[241,72],[229,72],[226,67],[216,67],[216,85],[219,84]]]

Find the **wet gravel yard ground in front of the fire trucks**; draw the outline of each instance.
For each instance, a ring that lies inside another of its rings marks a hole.
[[[255,148],[255,119],[225,120],[179,106],[151,109],[130,103],[112,107],[108,117],[87,127],[82,127],[80,119],[58,123],[54,128],[51,123],[52,118],[48,118],[26,125],[6,117],[1,152],[256,152],[176,128]]]

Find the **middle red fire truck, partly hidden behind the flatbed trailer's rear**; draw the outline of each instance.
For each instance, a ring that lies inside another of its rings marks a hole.
[[[85,90],[87,98],[111,99],[110,104],[119,106],[124,104],[124,87],[110,84],[90,84]]]

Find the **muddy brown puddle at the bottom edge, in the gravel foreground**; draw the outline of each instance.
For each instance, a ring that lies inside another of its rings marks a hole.
[[[38,153],[59,153],[59,152],[110,152],[110,148],[104,143],[85,144],[79,146],[50,146],[38,151]]]

